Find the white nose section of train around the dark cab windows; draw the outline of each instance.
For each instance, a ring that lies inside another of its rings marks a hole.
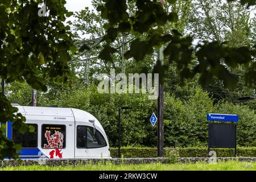
[[[100,129],[85,122],[76,122],[75,158],[106,158],[108,147]]]

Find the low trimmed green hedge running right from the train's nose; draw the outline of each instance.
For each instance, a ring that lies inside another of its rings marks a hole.
[[[211,148],[216,151],[217,157],[233,157],[234,148]],[[110,154],[113,158],[118,157],[118,148],[110,148]],[[151,147],[122,147],[121,155],[124,158],[154,158],[158,154],[157,148]],[[164,156],[172,154],[180,158],[207,157],[208,148],[188,147],[188,148],[164,148]],[[237,156],[256,157],[256,147],[238,147]]]

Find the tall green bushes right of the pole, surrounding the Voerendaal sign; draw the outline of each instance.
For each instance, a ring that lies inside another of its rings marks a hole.
[[[208,113],[238,114],[238,146],[256,146],[256,117],[248,106],[220,102],[213,104],[207,92],[195,90],[195,96],[181,101],[164,98],[164,144],[171,147],[208,146]]]

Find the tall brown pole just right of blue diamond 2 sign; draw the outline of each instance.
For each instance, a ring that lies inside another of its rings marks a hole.
[[[164,55],[163,55],[163,49],[164,47],[161,46],[158,50],[158,61],[160,61],[160,64],[164,64]],[[164,113],[163,113],[163,81],[159,79],[159,90],[158,90],[158,157],[163,158],[164,151],[164,128],[163,128],[163,120],[164,120]]]

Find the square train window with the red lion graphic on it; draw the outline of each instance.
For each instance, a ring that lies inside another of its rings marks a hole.
[[[42,125],[42,148],[65,148],[65,125]]]

